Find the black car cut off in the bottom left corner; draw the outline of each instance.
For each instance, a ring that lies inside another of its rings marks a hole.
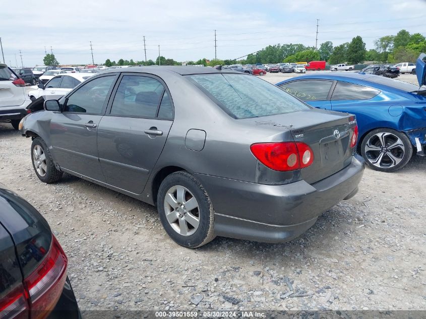
[[[67,256],[46,220],[0,183],[0,317],[81,318]]]

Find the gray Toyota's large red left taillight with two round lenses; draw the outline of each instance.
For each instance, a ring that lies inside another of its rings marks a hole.
[[[256,143],[250,150],[262,164],[277,171],[305,168],[314,162],[314,152],[301,142]]]

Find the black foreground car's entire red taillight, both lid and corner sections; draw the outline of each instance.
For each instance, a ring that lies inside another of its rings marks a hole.
[[[67,279],[67,256],[52,235],[52,244],[42,263],[11,293],[0,300],[0,318],[41,319],[56,305]],[[25,287],[25,288],[24,288]]]

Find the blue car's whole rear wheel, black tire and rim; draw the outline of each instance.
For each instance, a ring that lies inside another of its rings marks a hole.
[[[381,172],[401,169],[412,154],[413,147],[408,137],[392,129],[373,130],[361,142],[361,155],[366,164]]]

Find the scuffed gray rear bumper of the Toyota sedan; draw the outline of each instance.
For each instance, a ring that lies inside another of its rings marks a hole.
[[[358,155],[341,171],[314,184],[256,184],[195,174],[215,210],[218,236],[285,242],[305,232],[318,216],[354,196],[364,170]]]

